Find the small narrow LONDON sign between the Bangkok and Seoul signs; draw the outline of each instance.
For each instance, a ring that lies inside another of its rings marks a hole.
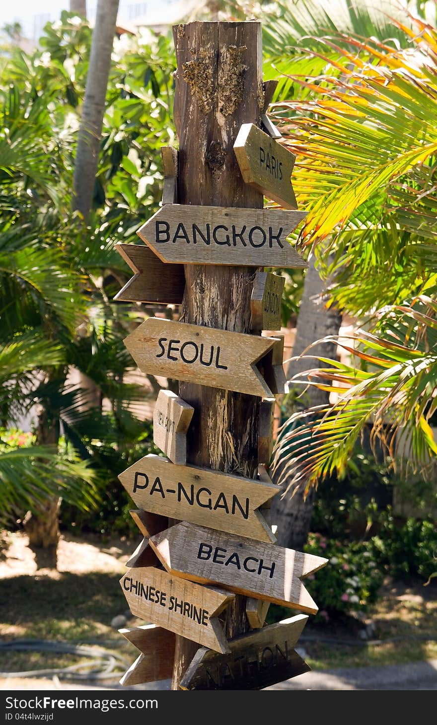
[[[285,277],[257,272],[250,300],[252,330],[280,330],[280,303]]]

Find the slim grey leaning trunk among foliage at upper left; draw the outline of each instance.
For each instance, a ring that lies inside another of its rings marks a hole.
[[[97,4],[73,178],[75,209],[80,211],[85,220],[93,203],[118,2],[99,0]]]

